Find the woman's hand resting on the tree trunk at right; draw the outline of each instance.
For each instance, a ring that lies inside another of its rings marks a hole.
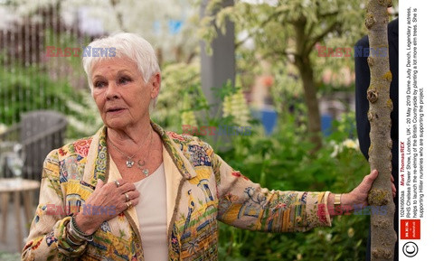
[[[365,207],[368,205],[368,192],[371,190],[373,181],[377,178],[378,172],[373,172],[364,176],[363,181],[351,192],[345,193],[341,198],[341,205],[343,208],[354,209],[354,206]],[[392,196],[396,196],[396,188],[393,184],[393,176],[391,175]]]

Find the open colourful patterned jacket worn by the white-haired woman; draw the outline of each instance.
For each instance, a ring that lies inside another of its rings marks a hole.
[[[328,191],[262,189],[197,137],[165,131],[155,123],[152,126],[164,144],[168,260],[218,260],[218,221],[268,232],[331,226]],[[94,191],[97,180],[120,178],[107,153],[106,131],[102,127],[96,135],[66,144],[47,156],[40,202],[23,260],[144,259],[135,208],[104,222],[93,241],[85,245],[72,248],[65,239],[71,214]]]

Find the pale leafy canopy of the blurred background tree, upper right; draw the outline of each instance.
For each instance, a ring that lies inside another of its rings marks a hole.
[[[226,20],[232,21],[236,32],[243,35],[236,43],[237,55],[245,59],[246,52],[251,53],[253,63],[246,64],[250,69],[252,65],[259,65],[261,60],[288,64],[294,63],[294,55],[309,56],[319,82],[325,68],[334,71],[342,67],[352,68],[354,61],[344,57],[318,57],[316,44],[334,49],[353,48],[355,42],[367,33],[360,1],[284,0],[276,1],[275,5],[234,2],[233,6],[222,7],[222,0],[209,1],[199,35],[211,44],[217,36],[216,30],[222,30]],[[305,26],[306,35],[302,40],[304,45],[297,47],[299,35],[296,28],[301,24]],[[253,42],[254,48],[246,48],[243,44],[246,41]],[[238,63],[244,70],[242,62]]]

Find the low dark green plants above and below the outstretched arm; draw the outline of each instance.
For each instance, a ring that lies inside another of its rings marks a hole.
[[[313,144],[302,139],[296,117],[279,118],[278,131],[236,136],[233,149],[218,152],[234,169],[253,182],[275,190],[349,192],[369,172],[357,148],[345,146],[354,130],[354,117],[335,123],[334,134],[317,154]],[[340,150],[335,152],[336,144]],[[221,260],[362,260],[369,219],[366,216],[336,217],[332,228],[314,228],[305,233],[264,234],[222,225]]]

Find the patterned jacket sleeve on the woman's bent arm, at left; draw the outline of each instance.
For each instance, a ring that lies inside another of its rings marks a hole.
[[[22,260],[74,260],[81,256],[87,243],[72,248],[66,241],[66,225],[70,220],[63,203],[59,156],[52,151],[43,163],[39,204]]]

